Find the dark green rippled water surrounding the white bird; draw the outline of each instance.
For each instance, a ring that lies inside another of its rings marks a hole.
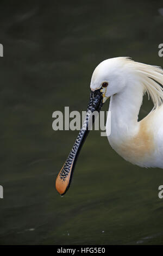
[[[163,244],[163,170],[133,166],[92,131],[61,198],[54,181],[78,131],[52,130],[54,111],[86,110],[102,60],[163,66],[162,1],[0,5],[1,245]],[[146,99],[140,117],[151,107]]]

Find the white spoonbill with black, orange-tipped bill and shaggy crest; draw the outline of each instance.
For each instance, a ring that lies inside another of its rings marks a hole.
[[[70,186],[74,164],[86,138],[90,112],[100,111],[110,97],[111,147],[125,160],[140,167],[163,168],[163,70],[158,66],[134,62],[127,57],[106,59],[91,78],[87,117],[64,166],[56,188],[65,194]],[[138,120],[143,94],[153,101],[152,111]],[[106,133],[109,129],[106,121]],[[86,129],[84,129],[86,127]]]

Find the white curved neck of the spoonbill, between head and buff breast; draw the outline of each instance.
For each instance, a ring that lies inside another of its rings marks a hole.
[[[143,98],[142,84],[133,83],[126,86],[122,92],[111,96],[109,111],[111,111],[111,137],[117,139],[131,136],[139,127],[138,115]],[[107,126],[107,124],[106,124]]]

